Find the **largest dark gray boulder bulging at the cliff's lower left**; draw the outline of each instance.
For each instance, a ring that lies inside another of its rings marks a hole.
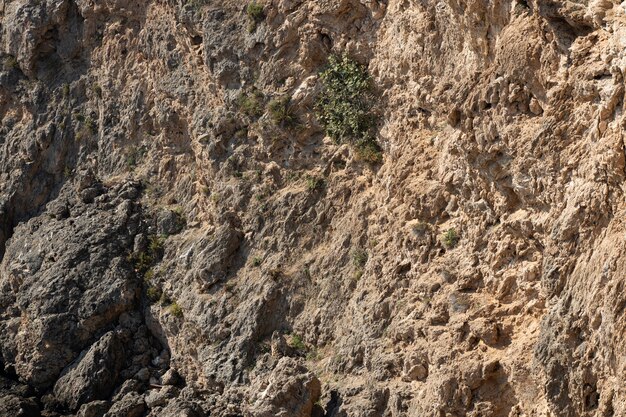
[[[74,198],[68,185],[62,195],[71,215],[55,209],[19,225],[0,263],[1,356],[42,390],[133,308],[140,287],[126,260],[140,227],[138,207],[120,196],[138,185],[111,188],[108,201],[95,204]]]

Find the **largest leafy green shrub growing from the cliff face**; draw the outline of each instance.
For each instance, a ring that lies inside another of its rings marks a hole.
[[[320,80],[322,92],[315,110],[328,136],[337,142],[352,143],[361,159],[380,162],[381,149],[374,137],[372,82],[367,69],[346,55],[331,56]]]

